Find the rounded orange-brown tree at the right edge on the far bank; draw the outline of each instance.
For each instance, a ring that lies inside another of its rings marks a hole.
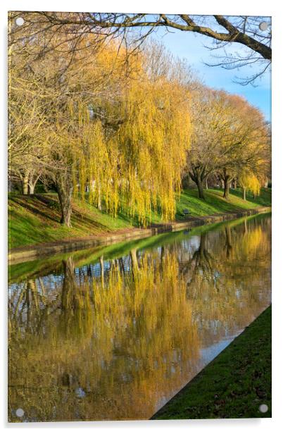
[[[263,114],[238,95],[223,94],[227,129],[220,147],[218,173],[224,182],[224,197],[229,197],[229,183],[258,191],[258,182],[267,177],[270,166],[270,137]],[[257,181],[256,181],[257,180]]]

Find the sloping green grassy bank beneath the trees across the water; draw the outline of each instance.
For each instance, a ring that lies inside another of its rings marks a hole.
[[[183,210],[191,211],[191,216],[208,216],[215,213],[235,212],[252,209],[256,206],[270,206],[271,191],[263,189],[260,197],[241,199],[240,192],[232,190],[229,201],[222,198],[221,190],[207,190],[206,201],[197,197],[196,190],[186,190],[177,202],[176,220],[184,220]],[[131,220],[127,210],[122,210],[117,218],[99,211],[80,201],[73,203],[72,228],[59,223],[60,208],[56,194],[35,194],[20,196],[11,194],[8,199],[9,247],[22,247],[43,242],[68,240],[68,238],[103,235],[113,231],[125,231],[138,222]],[[152,214],[153,223],[162,223],[161,215]]]

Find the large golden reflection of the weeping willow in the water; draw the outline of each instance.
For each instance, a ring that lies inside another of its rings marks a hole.
[[[52,419],[55,408],[59,419],[103,415],[127,419],[140,416],[143,409],[148,418],[158,397],[169,398],[196,373],[198,337],[177,261],[166,255],[163,275],[156,271],[157,262],[158,256],[146,254],[134,278],[120,271],[119,262],[113,263],[104,288],[101,276],[94,277],[90,286],[87,279],[78,285],[73,260],[63,263],[60,309],[42,324],[44,340],[27,333],[12,349],[9,381],[18,384],[22,376],[28,385],[27,414]],[[89,278],[87,269],[85,273]],[[90,293],[92,297],[87,297]],[[186,321],[179,324],[180,318]],[[24,348],[27,359],[20,356]],[[42,385],[36,402],[46,402],[44,409],[34,404],[29,389],[35,372]],[[80,407],[77,388],[99,393],[87,395]],[[11,405],[19,391],[20,387],[11,387]]]

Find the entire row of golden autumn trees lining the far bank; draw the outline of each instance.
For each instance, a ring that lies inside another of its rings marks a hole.
[[[151,210],[175,218],[189,173],[203,198],[216,173],[258,192],[269,174],[263,115],[240,97],[201,85],[161,45],[130,51],[84,33],[75,48],[60,32],[14,31],[9,51],[9,177],[23,194],[38,180],[58,192],[71,225],[78,195],[117,215],[127,206],[142,225]],[[15,37],[16,35],[16,37]],[[38,46],[48,47],[38,51]],[[40,54],[40,55],[39,55]]]

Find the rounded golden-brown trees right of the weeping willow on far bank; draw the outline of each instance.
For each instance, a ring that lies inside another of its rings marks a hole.
[[[200,87],[192,92],[192,132],[188,153],[189,175],[199,197],[203,183],[216,175],[229,196],[234,181],[259,194],[270,178],[270,127],[263,114],[243,97]]]

